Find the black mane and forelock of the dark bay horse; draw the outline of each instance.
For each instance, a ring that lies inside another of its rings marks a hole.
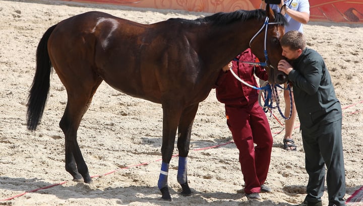
[[[275,15],[275,22],[280,25],[287,25],[286,18],[278,13],[277,11],[273,10]],[[194,23],[194,24],[203,24],[203,23],[212,23],[214,25],[227,25],[236,21],[246,21],[249,19],[259,19],[261,21],[265,21],[266,18],[266,11],[265,10],[237,10],[234,12],[219,12],[216,14],[213,14],[211,16],[207,16],[204,18],[199,18],[196,20],[187,20],[187,19],[181,19],[181,18],[171,18],[167,21],[179,21],[181,23]]]

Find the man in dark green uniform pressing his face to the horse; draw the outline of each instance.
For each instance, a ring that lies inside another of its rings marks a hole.
[[[288,75],[300,120],[308,195],[299,205],[320,206],[324,192],[325,165],[329,206],[345,205],[345,171],[342,147],[342,112],[322,56],[306,47],[302,33],[289,31],[281,39],[278,70]]]

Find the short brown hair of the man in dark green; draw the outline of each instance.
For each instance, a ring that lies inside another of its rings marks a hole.
[[[306,39],[301,32],[292,30],[283,35],[280,44],[284,47],[290,47],[291,50],[304,50],[306,47]]]

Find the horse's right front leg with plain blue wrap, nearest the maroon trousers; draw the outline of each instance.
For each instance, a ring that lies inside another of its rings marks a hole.
[[[182,191],[180,194],[189,196],[192,191],[188,185],[187,176],[187,162],[189,154],[189,146],[191,141],[192,126],[194,122],[195,115],[198,110],[198,103],[187,107],[180,116],[179,126],[178,126],[178,140],[177,148],[179,151],[179,162],[178,162],[178,172],[177,181],[181,185]]]

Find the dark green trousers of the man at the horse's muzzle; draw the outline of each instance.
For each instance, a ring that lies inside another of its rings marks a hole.
[[[324,193],[325,172],[329,205],[345,205],[345,170],[342,146],[342,120],[302,129],[305,168],[309,174],[305,200],[321,201]],[[325,166],[327,171],[325,171]]]

